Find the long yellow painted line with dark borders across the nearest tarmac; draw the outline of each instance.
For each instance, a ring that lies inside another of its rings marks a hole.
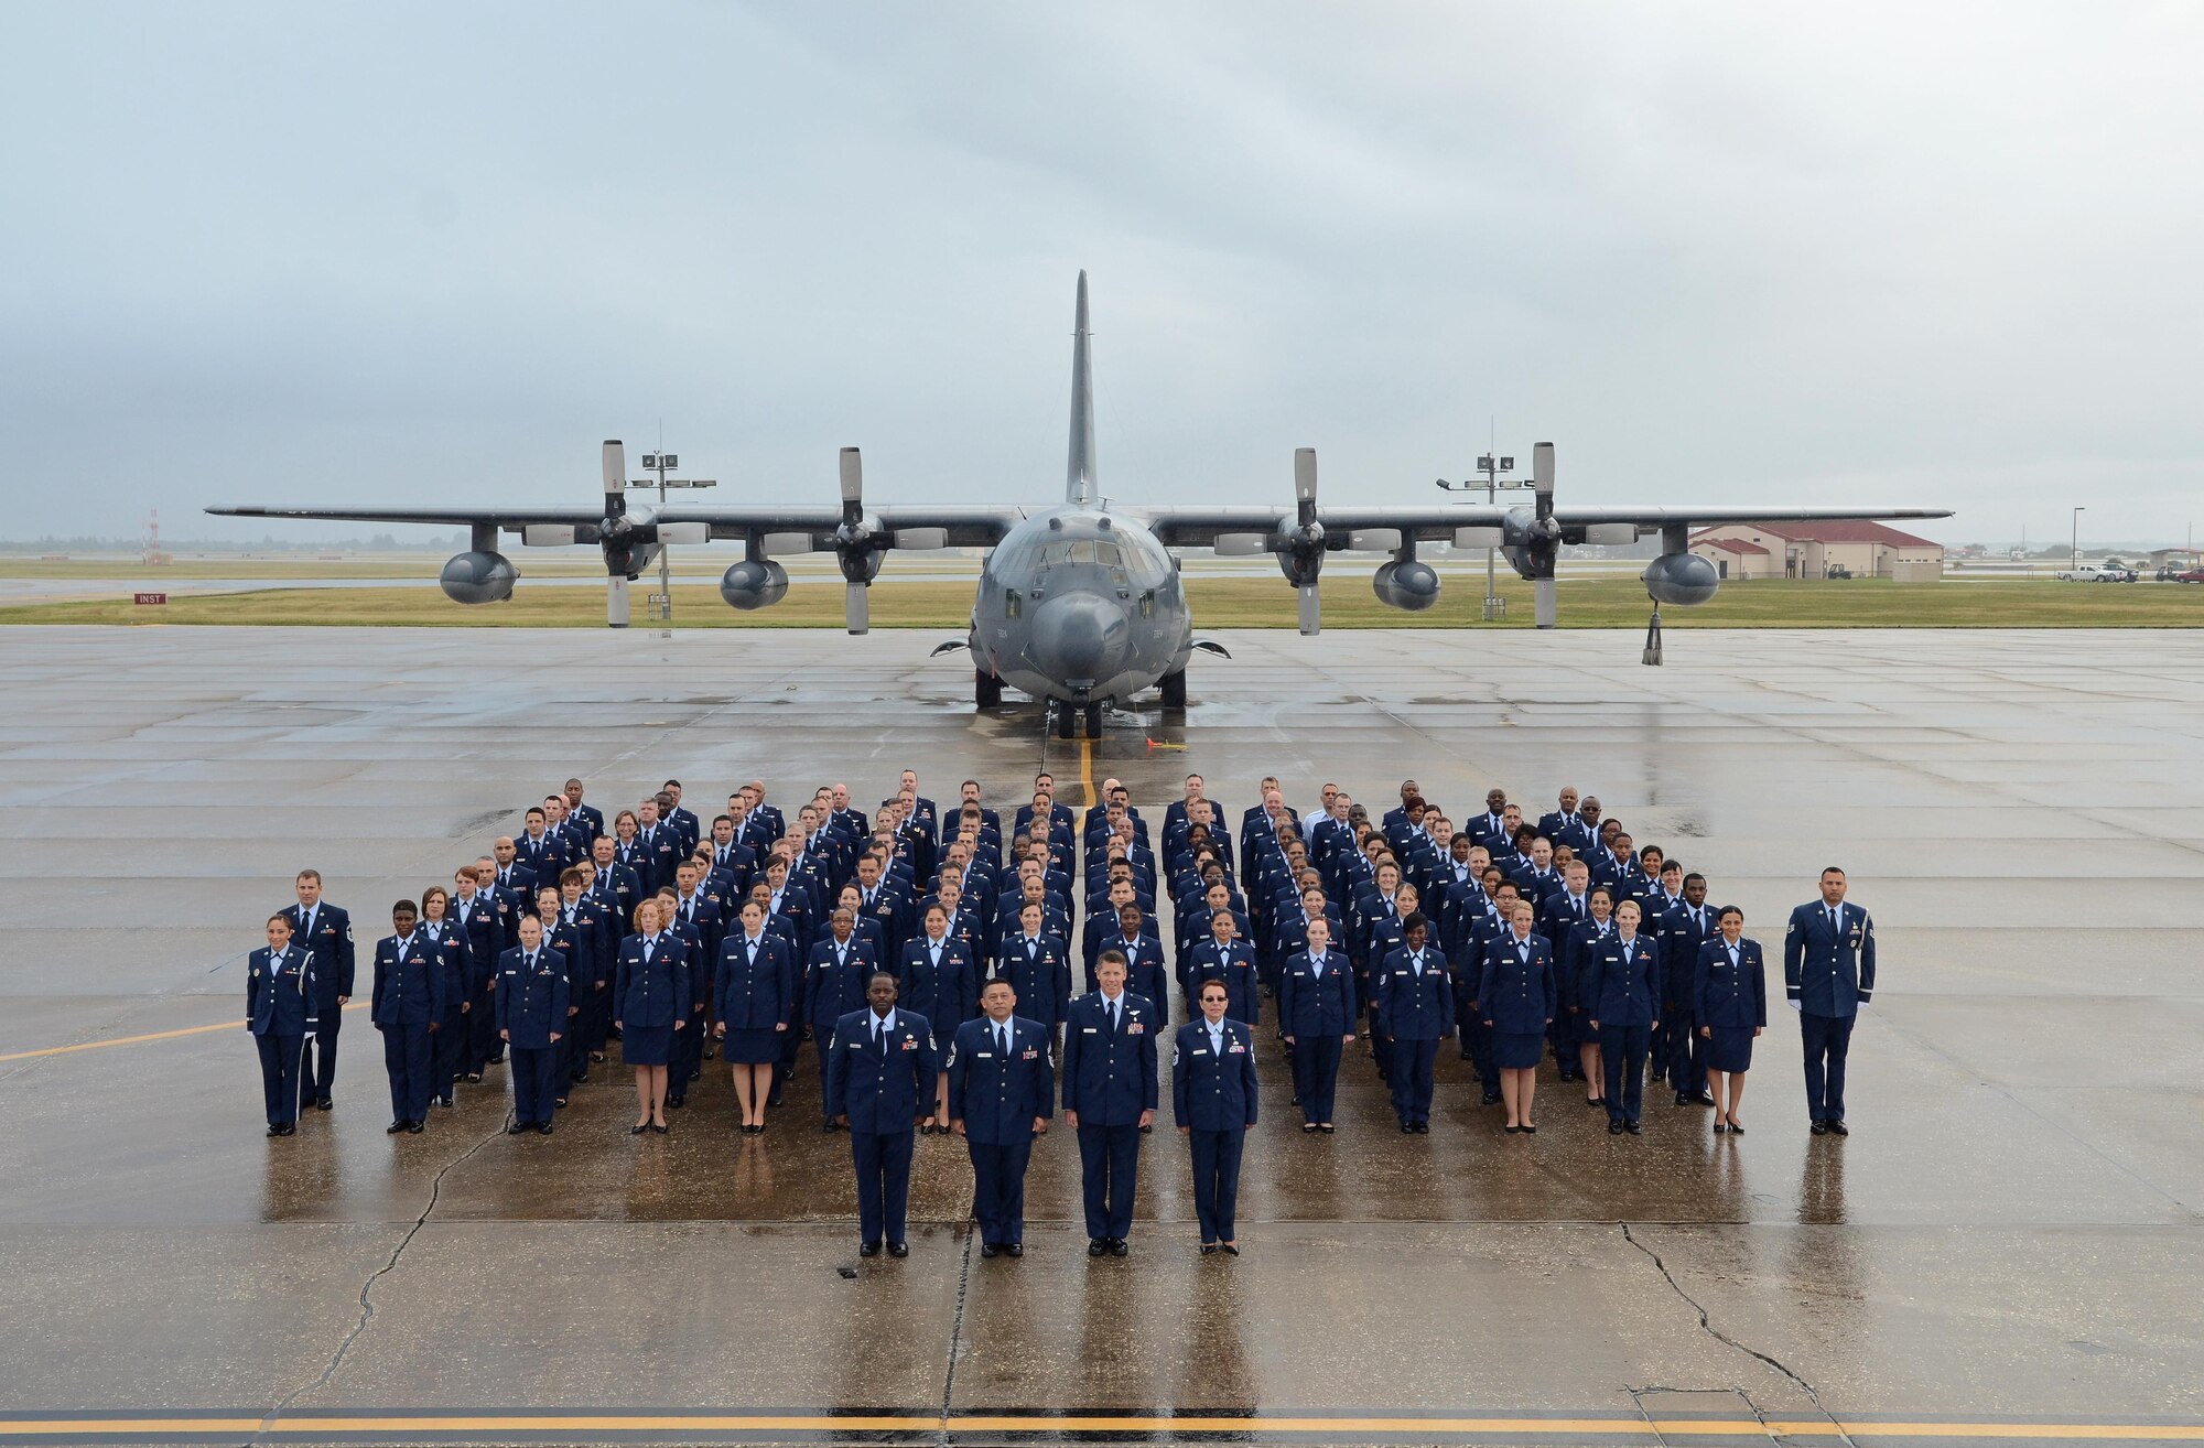
[[[2204,1441],[2204,1424],[1940,1424],[1940,1422],[1768,1422],[1757,1419],[1655,1419],[1640,1417],[1113,1417],[1113,1415],[624,1415],[624,1413],[511,1413],[511,1415],[282,1415],[262,1417],[20,1417],[0,1419],[0,1437],[95,1437],[95,1435],[207,1435],[260,1433],[282,1437],[317,1435],[485,1435],[485,1433],[1270,1433],[1415,1435],[1433,1437],[1838,1437],[1854,1439],[2048,1439],[2048,1441]]]

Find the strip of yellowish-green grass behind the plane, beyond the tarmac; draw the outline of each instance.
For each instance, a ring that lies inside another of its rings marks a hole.
[[[1508,617],[1477,617],[1483,577],[1450,575],[1428,613],[1380,604],[1360,577],[1325,588],[1331,628],[1530,628],[1532,591],[1501,582]],[[644,624],[644,584],[635,584],[635,622]],[[1292,628],[1294,591],[1274,577],[1190,577],[1197,628]],[[1635,577],[1560,582],[1563,628],[1642,628],[1646,595]],[[961,630],[972,613],[963,580],[893,580],[873,586],[875,628]],[[842,624],[838,582],[793,582],[787,599],[760,613],[727,608],[712,584],[674,584],[681,628],[831,628]],[[284,624],[430,628],[591,628],[604,624],[595,588],[516,588],[505,604],[463,608],[436,588],[269,588],[258,593],[172,595],[165,606],[128,599],[60,599],[0,606],[0,624]],[[2171,584],[1893,584],[1750,582],[1726,586],[1699,608],[1668,608],[1673,628],[2200,628],[2204,588]]]

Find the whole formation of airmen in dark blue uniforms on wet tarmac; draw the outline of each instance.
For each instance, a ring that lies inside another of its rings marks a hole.
[[[355,992],[350,917],[311,868],[295,893],[247,963],[271,1137],[293,1135],[304,1106],[333,1109]],[[1025,1170],[1058,1106],[1078,1137],[1089,1254],[1126,1256],[1168,1047],[1201,1252],[1236,1256],[1258,1031],[1289,1062],[1309,1135],[1333,1133],[1358,1042],[1400,1131],[1428,1133],[1446,1040],[1510,1135],[1538,1131],[1547,1058],[1611,1135],[1642,1133],[1649,1073],[1677,1106],[1710,1106],[1717,1135],[1743,1135],[1768,1027],[1743,923],[1708,906],[1701,873],[1576,789],[1536,820],[1492,789],[1457,822],[1415,780],[1380,820],[1325,785],[1305,822],[1265,778],[1234,844],[1199,774],[1155,835],[1120,780],[1080,815],[1049,774],[1007,822],[976,780],[943,811],[906,769],[871,815],[829,785],[785,818],[749,780],[710,826],[679,780],[611,820],[566,780],[450,888],[390,908],[370,1020],[390,1133],[425,1131],[432,1106],[505,1065],[507,1131],[551,1135],[617,1042],[633,1135],[668,1133],[710,1058],[730,1071],[741,1133],[758,1135],[809,1040],[820,1128],[851,1137],[864,1256],[906,1254],[923,1133],[970,1150],[983,1256],[1023,1256]],[[1876,941],[1840,868],[1792,912],[1783,983],[1809,1128],[1847,1135],[1845,1058]]]

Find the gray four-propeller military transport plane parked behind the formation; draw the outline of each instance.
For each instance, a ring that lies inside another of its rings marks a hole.
[[[1294,452],[1292,507],[1131,507],[1102,498],[1095,485],[1095,399],[1087,333],[1087,273],[1080,273],[1071,333],[1071,465],[1065,500],[1054,507],[882,507],[864,505],[864,469],[855,447],[842,450],[842,507],[628,507],[628,454],[604,445],[604,507],[209,507],[238,518],[337,518],[353,522],[467,525],[472,547],[443,566],[443,591],[458,604],[511,597],[520,571],[498,551],[498,533],[522,544],[597,544],[608,577],[606,624],[626,628],[628,582],[666,544],[741,538],[745,560],[730,566],[719,591],[734,608],[767,608],[789,591],[776,558],[833,553],[846,580],[849,630],[866,633],[866,588],[897,549],[987,549],[972,633],[934,652],[970,648],[972,694],[981,707],[1003,701],[1003,685],[1049,703],[1051,723],[1069,738],[1084,712],[1089,734],[1102,730],[1102,705],[1126,703],[1162,685],[1166,710],[1186,707],[1186,663],[1195,648],[1192,610],[1179,582],[1175,549],[1221,555],[1272,553],[1300,593],[1300,633],[1320,626],[1318,575],[1327,553],[1391,553],[1371,580],[1378,597],[1404,610],[1439,599],[1439,575],[1415,551],[1424,542],[1505,551],[1510,566],[1536,584],[1538,628],[1554,626],[1554,560],[1565,542],[1629,544],[1662,536],[1662,555],[1644,571],[1657,628],[1660,604],[1704,604],[1715,597],[1715,564],[1688,549],[1688,533],[1713,522],[1814,518],[1948,518],[1935,509],[1856,507],[1554,507],[1554,445],[1534,450],[1534,507],[1382,505],[1320,507],[1316,450]],[[635,483],[641,487],[641,483]],[[1657,637],[1657,635],[1655,635]],[[1657,661],[1649,646],[1646,661]]]

